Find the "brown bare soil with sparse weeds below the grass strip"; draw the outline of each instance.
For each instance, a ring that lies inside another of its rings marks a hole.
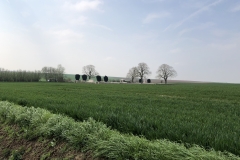
[[[17,126],[0,125],[0,159],[92,160],[93,157],[91,154],[81,153],[68,146],[65,142],[54,139],[26,140],[19,134]]]

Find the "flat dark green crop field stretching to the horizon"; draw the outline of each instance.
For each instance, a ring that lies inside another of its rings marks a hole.
[[[0,83],[0,100],[240,155],[238,84]]]

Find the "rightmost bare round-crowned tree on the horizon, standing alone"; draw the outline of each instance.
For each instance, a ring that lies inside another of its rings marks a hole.
[[[159,66],[157,70],[157,78],[163,78],[165,81],[165,84],[167,84],[167,79],[169,77],[175,77],[177,76],[177,72],[173,69],[172,66],[169,66],[167,64],[162,64]]]

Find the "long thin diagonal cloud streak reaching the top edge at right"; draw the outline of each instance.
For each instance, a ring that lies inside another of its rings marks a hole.
[[[190,16],[186,17],[185,19],[183,19],[182,21],[180,21],[178,24],[176,24],[176,26],[174,27],[174,29],[180,27],[183,23],[185,23],[186,21],[188,21],[189,19],[201,14],[203,11],[208,10],[209,8],[216,6],[217,4],[221,3],[223,0],[217,0],[213,3],[210,3],[202,8],[200,8],[199,10],[197,10],[196,12],[193,12]]]

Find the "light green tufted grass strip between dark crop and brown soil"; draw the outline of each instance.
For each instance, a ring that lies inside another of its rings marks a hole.
[[[9,102],[0,102],[0,121],[17,124],[27,139],[38,137],[67,141],[76,149],[91,151],[94,157],[129,160],[180,160],[240,159],[227,152],[206,151],[194,145],[186,148],[168,140],[149,141],[143,137],[121,134],[106,125],[88,119],[76,122],[67,116],[34,107],[21,107]],[[54,145],[54,141],[51,145]]]

